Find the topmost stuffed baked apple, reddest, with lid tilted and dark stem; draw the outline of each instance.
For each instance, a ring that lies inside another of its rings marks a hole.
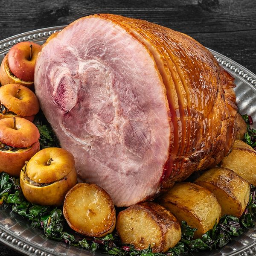
[[[3,58],[0,67],[1,84],[21,84],[32,89],[35,61],[41,49],[41,45],[28,41],[15,44]]]

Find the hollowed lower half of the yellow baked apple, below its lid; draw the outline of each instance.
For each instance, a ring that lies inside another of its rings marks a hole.
[[[25,166],[23,170],[26,169]],[[25,172],[20,172],[20,186],[23,195],[32,204],[60,206],[64,202],[67,191],[76,185],[76,169],[73,167],[67,177],[55,181],[48,186],[33,186],[24,180]]]

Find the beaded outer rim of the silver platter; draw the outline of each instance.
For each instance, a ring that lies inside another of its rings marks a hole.
[[[44,29],[37,29],[29,32],[25,32],[19,35],[12,36],[10,38],[6,38],[2,41],[0,41],[0,56],[3,57],[4,54],[6,54],[9,49],[22,41],[34,41],[38,43],[43,43],[50,35],[52,35],[55,32],[61,31],[65,26],[56,26],[56,27],[50,27],[50,28],[44,28]],[[235,61],[232,61],[231,59],[225,57],[224,55],[219,54],[218,52],[215,52],[211,49],[209,49],[214,57],[217,59],[218,63],[224,67],[226,70],[229,70],[230,73],[233,73],[237,77],[239,77],[239,80],[243,81],[245,84],[250,85],[250,87],[253,86],[254,89],[256,89],[256,75],[254,75],[252,72],[247,70],[246,68],[242,67],[240,64],[236,63]],[[54,249],[48,249],[46,247],[43,247],[42,245],[34,244],[30,240],[23,239],[22,236],[18,236],[15,232],[9,230],[8,226],[3,224],[1,220],[4,220],[4,218],[10,218],[10,216],[0,216],[0,242],[5,244],[6,246],[12,248],[13,250],[16,250],[19,253],[25,254],[25,255],[35,255],[35,256],[53,256],[53,255],[65,255],[63,253],[57,253],[54,251]],[[253,229],[253,240],[250,240],[243,244],[242,248],[237,248],[237,250],[233,249],[233,252],[230,251],[229,253],[221,253],[218,252],[214,255],[229,255],[229,256],[252,256],[256,255],[256,229]],[[239,241],[239,239],[237,239]],[[232,245],[231,245],[232,247]],[[84,251],[85,252],[85,251]],[[88,252],[87,252],[88,253]],[[87,254],[86,255],[90,255]],[[209,252],[208,252],[209,253]],[[207,252],[202,252],[200,255],[209,255]],[[67,254],[66,254],[67,255]]]

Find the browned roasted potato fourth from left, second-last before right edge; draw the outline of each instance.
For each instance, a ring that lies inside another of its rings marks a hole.
[[[230,169],[213,168],[204,172],[195,183],[215,195],[221,205],[221,215],[241,217],[250,196],[250,186],[242,177]]]

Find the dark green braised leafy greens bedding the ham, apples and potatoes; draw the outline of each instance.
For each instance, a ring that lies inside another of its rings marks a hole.
[[[247,133],[244,140],[249,145],[256,147],[256,130],[251,129],[252,120],[250,116],[244,115],[247,122]],[[35,118],[35,125],[40,131],[40,145],[42,148],[58,147],[58,139],[49,123],[42,113]],[[178,256],[188,252],[199,250],[212,250],[226,245],[233,236],[241,235],[246,228],[253,227],[253,219],[256,217],[256,188],[251,186],[250,200],[241,218],[224,215],[212,230],[205,233],[200,239],[193,239],[195,228],[189,227],[185,221],[182,222],[182,238],[167,253],[152,253],[150,247],[144,250],[135,250],[134,246],[122,244],[116,233],[109,234],[103,238],[84,238],[70,230],[63,218],[62,209],[57,207],[46,207],[32,205],[20,189],[19,179],[10,177],[7,173],[0,174],[0,204],[6,203],[12,207],[13,212],[31,221],[33,227],[44,230],[49,239],[64,241],[73,246],[83,247],[87,250],[98,249],[110,255],[119,256]]]

